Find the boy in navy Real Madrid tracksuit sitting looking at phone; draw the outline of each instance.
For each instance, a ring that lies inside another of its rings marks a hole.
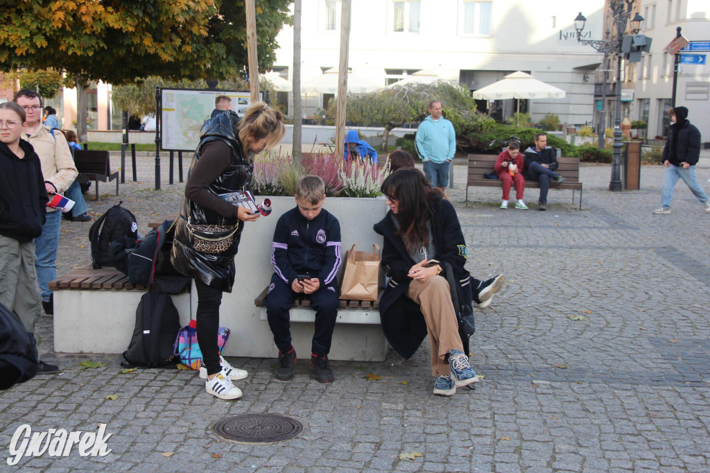
[[[293,378],[296,352],[291,344],[290,308],[298,293],[310,296],[315,309],[315,334],[311,345],[311,364],[315,380],[334,380],[328,353],[338,315],[338,269],[340,223],[323,209],[325,185],[315,175],[305,175],[296,184],[295,209],[283,214],[273,234],[271,263],[275,273],[264,300],[268,325],[278,347],[276,379]]]

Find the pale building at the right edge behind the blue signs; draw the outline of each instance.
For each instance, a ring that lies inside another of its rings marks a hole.
[[[710,1],[643,0],[639,9],[645,18],[641,33],[653,38],[651,51],[638,63],[635,77],[635,119],[648,123],[647,138],[665,137],[673,93],[674,56],[665,48],[677,28],[690,41],[710,43]],[[700,130],[702,141],[710,142],[710,50],[682,51],[682,55],[704,56],[705,64],[680,64],[676,106],[689,109],[688,119]]]

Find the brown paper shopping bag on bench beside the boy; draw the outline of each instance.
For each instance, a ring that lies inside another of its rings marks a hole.
[[[341,299],[377,300],[380,276],[380,247],[372,253],[356,251],[355,245],[345,254],[345,268],[340,283]]]

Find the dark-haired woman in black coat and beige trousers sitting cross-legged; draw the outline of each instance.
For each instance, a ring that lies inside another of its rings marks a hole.
[[[417,169],[400,169],[382,183],[390,211],[374,229],[383,235],[382,268],[390,281],[380,301],[388,342],[409,358],[429,335],[434,393],[452,396],[457,386],[479,381],[464,353],[452,289],[471,310],[471,277],[464,268],[466,241],[454,207]],[[502,282],[502,281],[501,281]],[[465,342],[464,342],[465,337]]]

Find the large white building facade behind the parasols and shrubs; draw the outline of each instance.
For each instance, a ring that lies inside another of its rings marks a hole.
[[[339,0],[302,2],[302,82],[338,66],[341,7]],[[529,108],[521,103],[521,111],[528,108],[533,121],[551,112],[564,124],[586,124],[594,120],[594,70],[602,55],[577,43],[580,8],[561,0],[353,0],[349,67],[381,85],[426,70],[471,92],[522,70],[567,95],[532,100]],[[583,8],[586,39],[601,39],[604,1]],[[274,70],[291,80],[292,27],[283,28],[278,43]],[[304,95],[304,115],[315,115],[331,97]],[[510,116],[517,104],[502,105],[479,103],[479,109]]]

